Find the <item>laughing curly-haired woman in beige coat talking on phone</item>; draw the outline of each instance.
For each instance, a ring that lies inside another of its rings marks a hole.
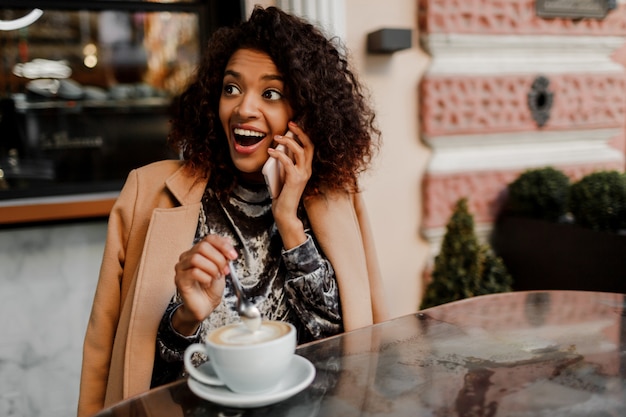
[[[358,187],[373,121],[346,59],[305,21],[255,8],[218,30],[172,123],[183,161],[131,172],[112,210],[79,415],[178,377],[186,346],[238,320],[229,261],[300,343],[384,320]],[[269,158],[284,170],[273,200]]]

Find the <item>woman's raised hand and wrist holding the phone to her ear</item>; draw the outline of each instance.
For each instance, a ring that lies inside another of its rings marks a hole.
[[[287,250],[301,245],[307,238],[297,213],[302,194],[311,178],[315,149],[313,142],[300,126],[289,122],[288,127],[294,135],[293,138],[288,136],[274,138],[277,143],[285,145],[287,152],[274,149],[269,151],[270,158],[278,159],[284,170],[284,185],[278,197],[272,202],[272,212],[283,246]]]

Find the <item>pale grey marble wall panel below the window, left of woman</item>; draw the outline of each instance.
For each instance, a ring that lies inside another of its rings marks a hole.
[[[0,415],[76,414],[106,221],[0,230]]]

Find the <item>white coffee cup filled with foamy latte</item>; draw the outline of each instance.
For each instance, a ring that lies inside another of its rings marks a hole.
[[[259,330],[250,331],[243,323],[220,327],[209,333],[204,343],[194,343],[185,350],[185,369],[197,381],[207,385],[226,385],[241,394],[271,391],[285,376],[296,350],[296,329],[286,322],[265,320]],[[215,374],[196,368],[194,353],[209,358]]]

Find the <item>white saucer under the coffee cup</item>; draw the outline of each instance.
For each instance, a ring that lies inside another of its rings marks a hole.
[[[211,365],[205,363],[201,366],[210,367]],[[187,385],[198,397],[216,404],[235,408],[254,408],[277,403],[299,393],[313,382],[313,378],[315,378],[313,364],[308,359],[295,355],[291,360],[287,375],[278,386],[263,394],[238,394],[226,387],[205,385],[192,377],[187,379]]]

